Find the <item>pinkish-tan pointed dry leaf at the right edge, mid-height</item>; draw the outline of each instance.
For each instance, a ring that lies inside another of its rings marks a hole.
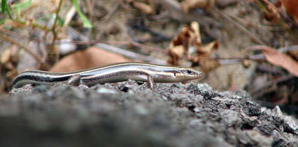
[[[266,60],[271,64],[282,66],[290,73],[298,77],[298,62],[293,60],[285,53],[281,53],[270,47],[260,47]]]

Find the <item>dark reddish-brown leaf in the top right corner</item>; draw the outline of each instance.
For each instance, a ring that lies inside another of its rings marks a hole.
[[[297,0],[283,0],[287,12],[294,18],[298,24],[298,1]]]

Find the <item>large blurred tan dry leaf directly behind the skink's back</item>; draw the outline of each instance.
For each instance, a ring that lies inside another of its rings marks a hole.
[[[89,47],[85,50],[77,51],[64,57],[56,63],[50,71],[69,72],[110,63],[129,61],[132,60],[129,60],[117,53],[109,52],[97,47]]]

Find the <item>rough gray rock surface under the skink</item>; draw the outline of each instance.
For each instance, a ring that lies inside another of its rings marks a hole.
[[[0,98],[1,146],[298,146],[298,126],[245,91],[129,80],[26,85]]]

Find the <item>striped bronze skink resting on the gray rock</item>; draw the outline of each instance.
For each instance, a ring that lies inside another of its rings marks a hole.
[[[93,86],[95,84],[122,82],[132,79],[148,82],[149,87],[153,90],[154,82],[184,82],[198,79],[201,76],[202,72],[193,68],[122,62],[72,72],[25,71],[15,77],[12,85],[14,88],[20,88],[26,84],[54,85],[65,82],[75,86],[80,84]]]

